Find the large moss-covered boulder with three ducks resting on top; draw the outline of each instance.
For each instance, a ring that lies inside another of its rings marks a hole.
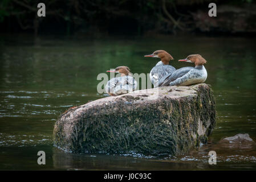
[[[215,124],[209,85],[166,86],[67,110],[55,123],[54,145],[76,153],[177,155],[207,143]]]

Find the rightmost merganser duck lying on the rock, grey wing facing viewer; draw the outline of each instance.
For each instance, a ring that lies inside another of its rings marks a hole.
[[[194,63],[196,67],[184,67],[177,69],[172,74],[166,75],[159,83],[160,86],[173,86],[173,85],[192,85],[205,82],[207,72],[204,67],[206,60],[201,55],[189,55],[186,59],[178,61],[185,61]]]

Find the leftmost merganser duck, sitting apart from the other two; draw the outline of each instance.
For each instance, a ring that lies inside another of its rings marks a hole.
[[[134,91],[137,88],[137,81],[129,76],[131,74],[130,69],[125,66],[117,67],[115,70],[107,72],[121,73],[120,77],[112,78],[105,85],[105,91],[110,96],[117,96]]]

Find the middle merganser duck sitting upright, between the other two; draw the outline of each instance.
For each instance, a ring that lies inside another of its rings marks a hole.
[[[173,60],[173,57],[164,50],[155,51],[151,55],[145,55],[144,57],[158,57],[161,59],[149,73],[150,80],[154,87],[159,86],[159,82],[162,82],[162,77],[176,70],[173,66],[169,65],[169,61]]]

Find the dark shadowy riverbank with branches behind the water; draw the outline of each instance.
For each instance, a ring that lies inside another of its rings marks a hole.
[[[46,5],[46,17],[37,5]],[[209,3],[217,17],[209,17]],[[203,32],[255,34],[254,0],[1,0],[2,33],[38,35],[111,36]]]

